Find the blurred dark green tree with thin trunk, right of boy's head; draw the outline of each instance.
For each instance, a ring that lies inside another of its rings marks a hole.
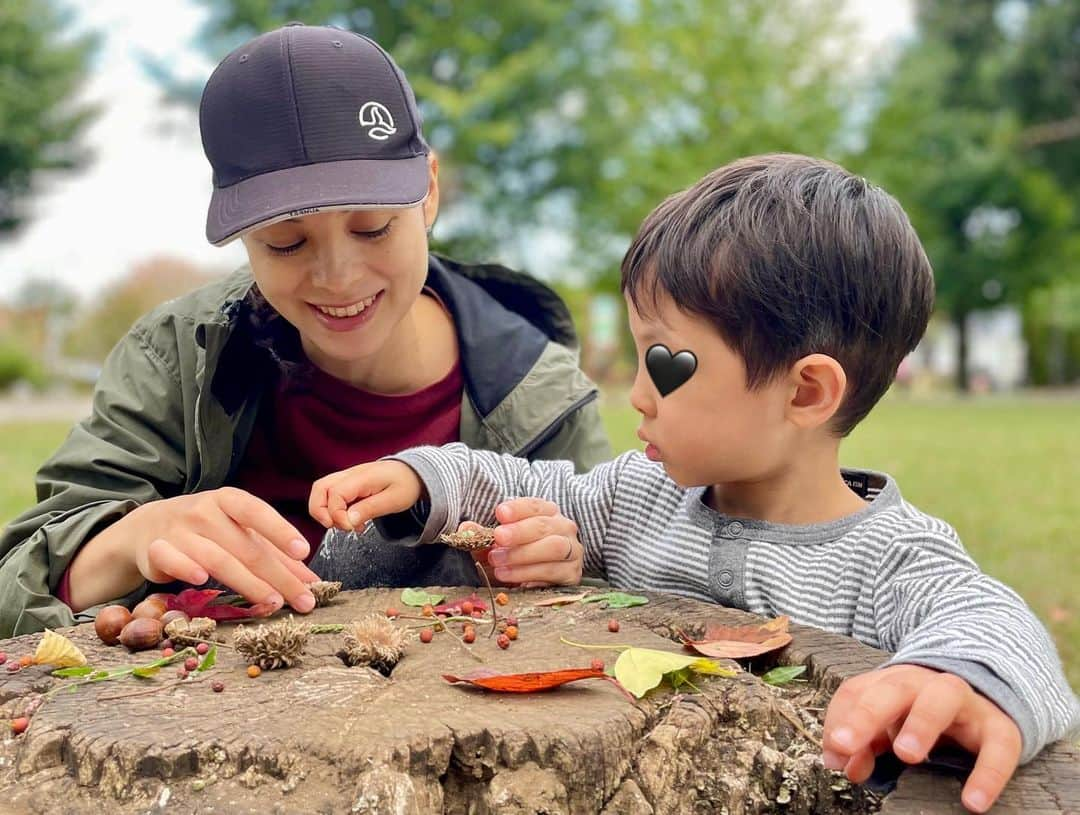
[[[1001,82],[1022,19],[1009,0],[919,0],[917,37],[881,97],[859,165],[904,204],[959,337],[968,316],[1023,303],[1070,255],[1074,201],[1021,146]],[[1010,14],[1013,16],[1010,17]]]

